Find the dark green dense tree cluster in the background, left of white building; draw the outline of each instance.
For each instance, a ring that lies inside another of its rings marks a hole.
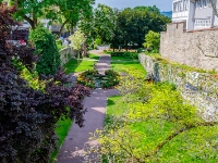
[[[116,37],[120,38],[120,45],[125,46],[137,43],[142,47],[145,35],[149,30],[159,33],[166,29],[169,17],[161,15],[156,7],[126,8],[117,16],[117,28],[121,30]]]

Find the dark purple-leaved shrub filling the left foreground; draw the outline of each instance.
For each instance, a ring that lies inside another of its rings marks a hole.
[[[0,11],[0,162],[48,162],[57,148],[56,123],[61,117],[83,126],[82,104],[88,90],[83,86],[64,87],[66,77],[59,71],[47,80],[44,90],[35,90],[20,77],[13,59],[34,72],[36,61],[29,45],[8,43],[14,11]],[[19,35],[19,33],[16,33]]]

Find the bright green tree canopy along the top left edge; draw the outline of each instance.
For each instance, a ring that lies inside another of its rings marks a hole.
[[[15,17],[27,21],[32,29],[39,24],[40,18],[62,23],[60,34],[66,24],[75,26],[81,17],[87,17],[93,10],[94,0],[11,0],[13,8],[16,8]]]

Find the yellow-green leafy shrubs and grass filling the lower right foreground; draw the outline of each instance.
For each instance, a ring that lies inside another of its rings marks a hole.
[[[205,122],[174,85],[148,83],[134,71],[128,74],[120,84],[121,96],[108,99],[105,128],[92,135],[100,142],[99,159],[216,163],[218,123]]]

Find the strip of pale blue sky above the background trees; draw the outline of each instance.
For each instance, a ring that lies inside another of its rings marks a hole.
[[[134,8],[137,5],[156,5],[160,11],[171,11],[172,0],[95,0],[97,3],[106,4],[111,8]]]

